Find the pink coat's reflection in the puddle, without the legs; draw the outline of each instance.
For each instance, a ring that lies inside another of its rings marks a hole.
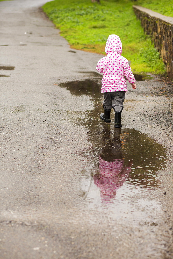
[[[100,188],[103,201],[110,201],[116,196],[116,191],[123,185],[131,168],[124,167],[123,160],[107,162],[99,157],[99,174],[93,176],[94,183]]]

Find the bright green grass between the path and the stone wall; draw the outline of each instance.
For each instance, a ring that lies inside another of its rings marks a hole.
[[[165,65],[133,12],[132,5],[138,2],[56,0],[46,3],[43,10],[72,48],[105,55],[107,37],[117,34],[122,55],[131,61],[134,73],[164,74]]]

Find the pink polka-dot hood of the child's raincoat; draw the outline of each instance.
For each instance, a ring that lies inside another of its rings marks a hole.
[[[110,52],[117,52],[119,55],[122,53],[122,43],[118,35],[109,35],[106,41],[105,52],[108,55]]]

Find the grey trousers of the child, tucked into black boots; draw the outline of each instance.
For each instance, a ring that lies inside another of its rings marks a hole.
[[[125,91],[106,92],[104,93],[104,98],[103,108],[105,110],[111,110],[111,108],[113,108],[115,112],[122,112]]]

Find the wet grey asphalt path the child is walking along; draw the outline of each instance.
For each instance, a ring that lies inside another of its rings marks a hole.
[[[118,139],[113,113],[99,120],[101,56],[70,49],[45,2],[0,2],[0,258],[172,258],[172,85],[129,86]],[[108,145],[131,170],[110,200]]]

